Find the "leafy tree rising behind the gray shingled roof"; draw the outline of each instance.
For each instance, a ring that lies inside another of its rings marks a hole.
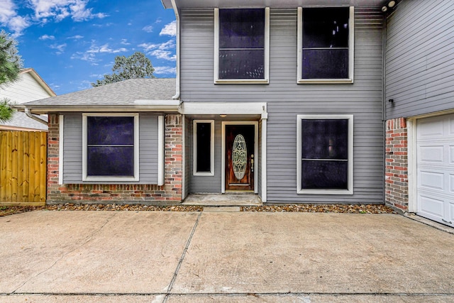
[[[129,57],[116,56],[112,75],[104,75],[104,79],[92,82],[92,87],[100,87],[104,84],[123,81],[133,78],[154,78],[155,69],[151,65],[150,59],[144,53],[135,52]]]

